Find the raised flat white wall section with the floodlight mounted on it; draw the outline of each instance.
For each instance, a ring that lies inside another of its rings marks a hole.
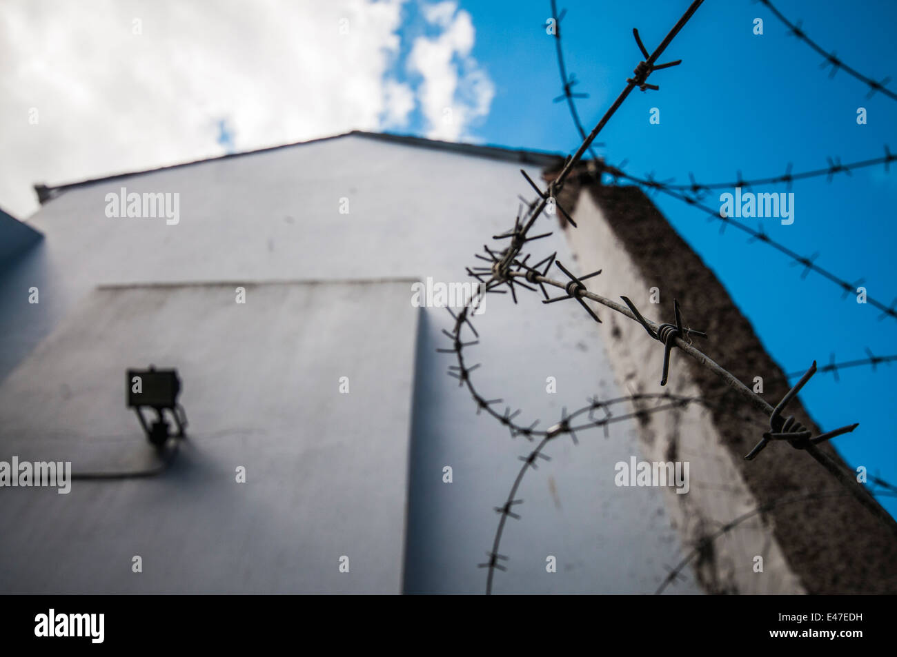
[[[150,364],[178,367],[188,438],[152,479],[0,489],[0,591],[401,592],[407,286],[247,285],[245,305],[230,284],[122,287],[79,301],[0,386],[0,460],[158,466],[125,407],[126,369]]]

